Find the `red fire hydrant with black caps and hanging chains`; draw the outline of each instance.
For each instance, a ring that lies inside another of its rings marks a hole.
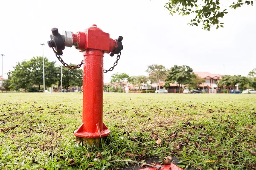
[[[58,33],[57,28],[52,28],[49,47],[55,51],[56,57],[65,67],[71,69],[80,68],[80,65],[69,66],[63,62],[60,55],[65,46],[73,45],[84,53],[84,77],[83,77],[83,118],[81,126],[75,130],[74,135],[85,144],[99,146],[100,138],[108,136],[110,130],[103,123],[103,55],[104,53],[118,54],[120,57],[122,36],[117,40],[109,37],[96,25],[87,28],[84,32],[74,34],[64,31],[64,35]],[[115,66],[115,65],[114,65]],[[113,67],[114,67],[113,66]],[[110,71],[113,70],[113,67]],[[108,72],[105,71],[104,72]]]

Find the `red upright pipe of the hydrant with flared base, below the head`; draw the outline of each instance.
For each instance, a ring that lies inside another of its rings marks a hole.
[[[83,118],[74,132],[82,138],[108,136],[103,123],[103,55],[100,50],[84,51]]]

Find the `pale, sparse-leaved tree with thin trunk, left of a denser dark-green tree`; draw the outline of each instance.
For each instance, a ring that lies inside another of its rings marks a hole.
[[[157,85],[159,85],[160,90],[160,82],[164,81],[166,77],[166,68],[163,65],[153,64],[148,66],[146,72],[148,73],[148,78],[150,79],[151,83],[156,82]]]

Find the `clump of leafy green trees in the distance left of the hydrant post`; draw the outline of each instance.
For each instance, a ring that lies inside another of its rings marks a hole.
[[[72,64],[70,64],[72,65]],[[31,89],[33,85],[43,85],[43,57],[33,57],[29,61],[18,62],[14,70],[9,72],[9,86],[14,90],[20,88]],[[44,58],[44,75],[45,86],[51,87],[52,85],[60,85],[61,80],[61,67],[55,67],[55,61],[50,62],[46,57]],[[81,69],[70,70],[69,68],[63,69],[63,86],[82,86],[83,71]],[[7,83],[8,81],[6,81]],[[59,83],[57,83],[59,82]]]

